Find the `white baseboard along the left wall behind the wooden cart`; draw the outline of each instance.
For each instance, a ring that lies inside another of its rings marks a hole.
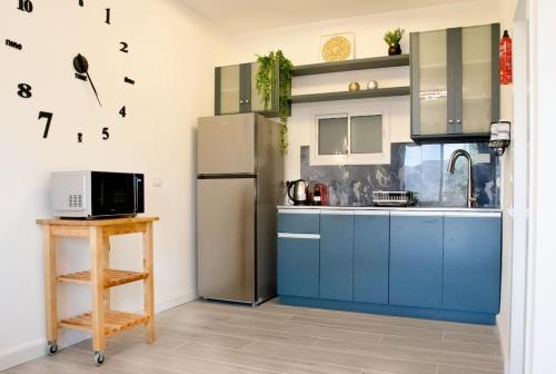
[[[172,307],[186,304],[196,299],[197,289],[191,289],[175,295],[169,295],[155,301],[155,309],[157,313],[171,309]],[[142,311],[142,305],[128,309],[129,312]],[[58,345],[60,348],[71,346],[90,338],[90,335],[81,332],[67,332],[60,336]],[[12,348],[0,352],[0,372],[31,360],[36,360],[46,355],[47,339],[39,338],[32,342],[23,343]]]

